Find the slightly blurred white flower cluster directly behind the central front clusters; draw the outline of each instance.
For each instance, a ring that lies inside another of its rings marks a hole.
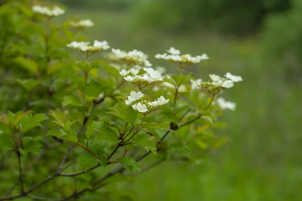
[[[136,49],[129,52],[125,52],[120,49],[112,49],[112,53],[119,60],[128,61],[133,64],[144,65],[146,67],[152,66],[152,64],[147,60],[148,56]]]

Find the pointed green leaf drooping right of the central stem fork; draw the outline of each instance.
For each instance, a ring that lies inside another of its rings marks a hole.
[[[132,139],[131,143],[137,146],[141,146],[145,148],[147,151],[152,151],[154,154],[157,154],[157,148],[152,141],[154,139],[153,136],[150,136],[148,134],[136,134]]]

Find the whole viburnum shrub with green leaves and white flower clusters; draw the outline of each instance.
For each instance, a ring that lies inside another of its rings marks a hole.
[[[235,110],[221,94],[240,76],[183,74],[208,56],[174,47],[155,56],[180,71],[165,74],[139,50],[86,41],[91,20],[60,24],[65,11],[46,5],[0,7],[0,200],[128,200],[127,175],[167,160],[198,164],[228,141],[213,128]]]

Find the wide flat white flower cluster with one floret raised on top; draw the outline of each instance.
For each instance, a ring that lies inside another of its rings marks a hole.
[[[156,54],[155,58],[164,59],[171,62],[182,62],[182,63],[200,63],[202,60],[208,59],[209,57],[206,54],[192,56],[190,54],[181,55],[180,50],[171,47],[167,50],[168,53]]]

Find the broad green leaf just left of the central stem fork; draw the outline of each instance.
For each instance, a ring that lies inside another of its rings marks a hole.
[[[109,127],[103,126],[97,129],[98,133],[95,135],[95,142],[107,142],[108,145],[114,145],[120,142],[115,131]]]

